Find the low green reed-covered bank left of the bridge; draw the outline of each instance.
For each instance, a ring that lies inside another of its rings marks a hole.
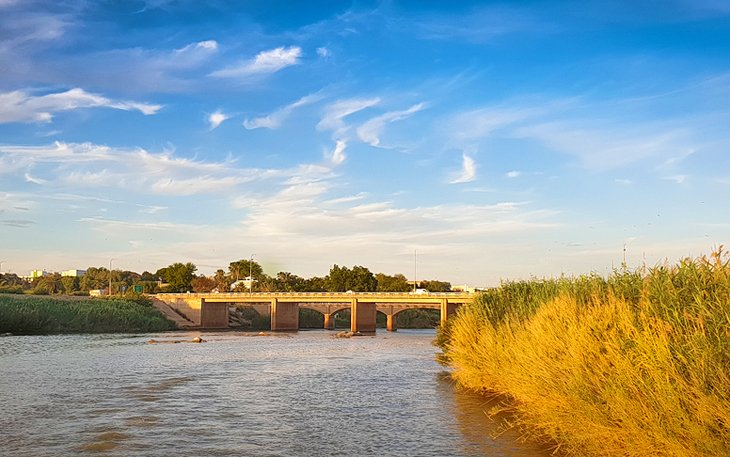
[[[145,300],[0,295],[0,334],[144,333],[176,328]]]

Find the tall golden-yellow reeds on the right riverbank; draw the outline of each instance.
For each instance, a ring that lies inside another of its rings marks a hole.
[[[437,339],[452,376],[583,456],[730,455],[730,258],[503,284]],[[496,411],[496,410],[494,410]]]

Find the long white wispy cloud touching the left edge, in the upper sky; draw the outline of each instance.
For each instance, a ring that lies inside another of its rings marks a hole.
[[[83,108],[113,108],[152,115],[161,105],[111,100],[75,88],[65,92],[33,96],[24,91],[0,93],[0,123],[50,122],[54,113]]]

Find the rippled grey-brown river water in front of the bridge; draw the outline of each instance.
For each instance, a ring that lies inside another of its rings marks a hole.
[[[433,338],[0,338],[0,455],[549,455],[511,431],[492,438],[486,400],[452,385]]]

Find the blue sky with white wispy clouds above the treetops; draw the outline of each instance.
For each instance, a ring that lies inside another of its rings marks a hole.
[[[454,284],[730,240],[730,3],[0,0],[3,271]]]

